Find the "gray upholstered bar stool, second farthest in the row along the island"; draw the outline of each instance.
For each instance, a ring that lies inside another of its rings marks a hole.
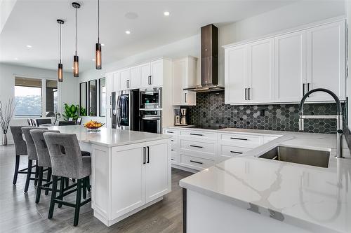
[[[37,185],[38,182],[38,164],[36,162],[36,169],[35,169],[35,177],[33,178],[32,175],[32,164],[33,160],[37,161],[37,150],[35,149],[34,141],[32,139],[32,135],[30,135],[31,129],[48,129],[46,127],[34,127],[34,126],[25,126],[22,127],[23,135],[25,135],[25,141],[27,144],[27,153],[28,153],[28,170],[27,170],[27,179],[25,181],[25,192],[28,191],[29,188],[29,181],[34,181],[34,185]]]

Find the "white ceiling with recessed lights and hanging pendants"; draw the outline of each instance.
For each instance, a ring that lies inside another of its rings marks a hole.
[[[5,0],[6,1],[6,0]],[[102,62],[114,62],[182,38],[199,34],[200,27],[236,22],[279,8],[296,0],[241,1],[112,1],[100,0]],[[58,23],[62,25],[62,63],[72,68],[74,8],[67,0],[18,0],[0,34],[0,62],[44,69],[58,63]],[[93,69],[98,37],[97,0],[79,1],[79,69]],[[170,16],[164,16],[164,11]],[[136,13],[128,19],[126,13]],[[131,34],[127,35],[126,30]],[[32,45],[27,48],[26,45]]]

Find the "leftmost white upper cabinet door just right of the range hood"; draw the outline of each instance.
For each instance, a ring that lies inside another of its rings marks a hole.
[[[247,102],[247,45],[225,49],[225,104]]]

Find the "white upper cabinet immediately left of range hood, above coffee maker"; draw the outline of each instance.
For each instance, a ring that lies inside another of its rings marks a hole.
[[[184,88],[193,87],[197,81],[197,58],[183,57],[173,61],[173,105],[196,105],[196,93],[185,91]]]

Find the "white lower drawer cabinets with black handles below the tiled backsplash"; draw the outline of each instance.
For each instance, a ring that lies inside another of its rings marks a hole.
[[[216,130],[165,128],[172,136],[171,163],[177,168],[201,171],[277,139],[279,135],[238,134]]]

